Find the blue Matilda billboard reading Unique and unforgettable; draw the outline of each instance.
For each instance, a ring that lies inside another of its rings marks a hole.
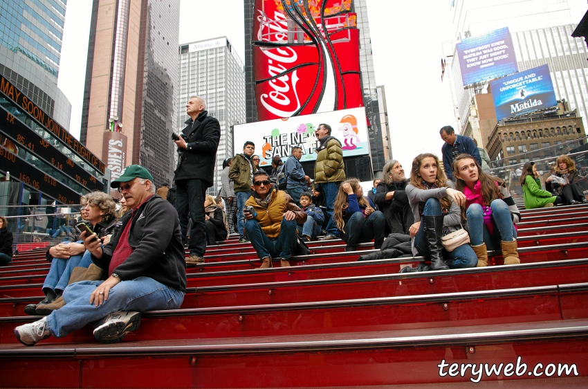
[[[547,65],[494,80],[490,90],[497,120],[558,105]]]

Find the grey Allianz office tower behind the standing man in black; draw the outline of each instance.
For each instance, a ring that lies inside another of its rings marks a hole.
[[[223,160],[232,156],[232,126],[245,123],[243,62],[226,37],[180,45],[176,132],[185,127],[188,118],[185,105],[190,96],[203,98],[208,114],[221,125],[212,186],[212,193],[218,194]]]

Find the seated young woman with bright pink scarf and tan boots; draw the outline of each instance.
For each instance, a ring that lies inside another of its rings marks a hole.
[[[502,248],[504,264],[520,264],[517,223],[521,214],[502,180],[486,174],[470,154],[455,157],[456,188],[466,196],[465,215],[478,267],[488,266],[488,249]]]

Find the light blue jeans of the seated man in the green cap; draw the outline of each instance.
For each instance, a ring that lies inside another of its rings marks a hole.
[[[65,289],[63,298],[67,304],[47,316],[51,334],[62,338],[89,323],[97,327],[104,323],[98,320],[116,311],[177,309],[184,300],[185,293],[166,287],[153,278],[139,277],[116,284],[110,289],[108,300],[95,307],[90,304],[90,295],[102,282],[75,282]]]

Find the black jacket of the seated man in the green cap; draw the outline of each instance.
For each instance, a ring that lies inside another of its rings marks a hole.
[[[133,214],[134,213],[134,214]],[[108,270],[114,248],[125,230],[129,230],[129,245],[134,249],[125,262],[114,272],[120,280],[149,277],[177,291],[186,291],[186,262],[180,233],[180,221],[175,208],[168,201],[154,194],[136,212],[127,212],[120,218],[120,227],[112,235],[110,243],[102,249],[100,259],[92,255],[92,261]]]

